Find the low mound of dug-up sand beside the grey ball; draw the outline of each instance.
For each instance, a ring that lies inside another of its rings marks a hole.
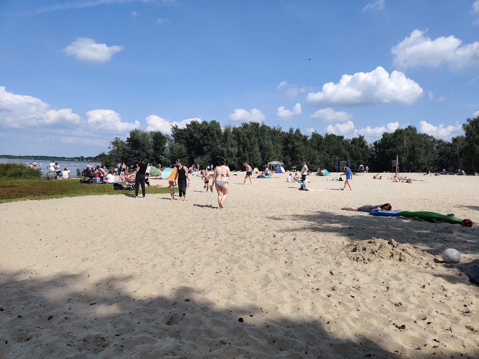
[[[433,256],[425,250],[410,244],[400,244],[394,239],[385,240],[371,237],[365,241],[354,241],[344,247],[348,258],[359,263],[371,263],[378,259],[389,259],[397,262],[418,262],[424,259],[433,260]]]

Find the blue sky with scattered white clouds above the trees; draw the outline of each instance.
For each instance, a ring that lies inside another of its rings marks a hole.
[[[479,0],[4,0],[0,34],[2,154],[199,119],[450,139],[479,111]]]

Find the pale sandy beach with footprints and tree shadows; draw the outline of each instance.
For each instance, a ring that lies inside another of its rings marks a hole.
[[[0,358],[479,357],[479,177],[244,174],[223,210],[196,176],[186,202],[0,204]],[[340,209],[385,202],[474,226]]]

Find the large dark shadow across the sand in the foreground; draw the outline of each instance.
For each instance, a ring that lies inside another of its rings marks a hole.
[[[403,349],[381,348],[372,333],[332,335],[334,326],[324,318],[269,315],[252,303],[216,309],[216,302],[192,287],[178,285],[168,296],[143,297],[122,289],[128,276],[93,284],[87,273],[61,273],[51,280],[0,275],[2,359],[408,357]],[[21,300],[7,298],[4,293],[11,290]],[[52,292],[58,293],[54,299]],[[449,348],[442,352],[434,358],[462,355]],[[430,357],[418,351],[414,358]]]

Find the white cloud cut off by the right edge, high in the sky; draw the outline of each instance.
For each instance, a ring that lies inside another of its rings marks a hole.
[[[407,69],[447,64],[451,70],[458,71],[479,65],[479,41],[462,45],[462,41],[452,35],[431,40],[424,34],[425,31],[416,29],[397,46],[391,47],[395,67]]]

